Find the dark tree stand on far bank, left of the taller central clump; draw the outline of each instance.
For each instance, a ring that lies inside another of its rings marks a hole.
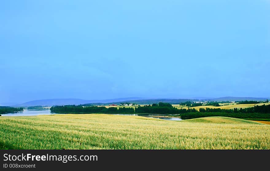
[[[54,113],[134,113],[133,108],[116,107],[106,108],[104,106],[77,106],[77,105],[64,105],[64,106],[52,106],[51,112]]]

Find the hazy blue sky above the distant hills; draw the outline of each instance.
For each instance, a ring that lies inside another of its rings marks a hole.
[[[0,102],[269,97],[270,1],[1,1]]]

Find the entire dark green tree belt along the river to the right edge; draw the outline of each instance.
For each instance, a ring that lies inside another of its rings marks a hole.
[[[220,109],[220,108],[200,108],[196,109],[177,109],[169,103],[153,103],[152,105],[138,106],[135,108],[116,107],[106,108],[104,106],[89,106],[83,107],[80,105],[65,105],[65,106],[53,106],[51,111],[55,113],[137,113],[144,114],[179,114],[182,119],[192,119],[197,117],[208,116],[226,116],[236,118],[257,118],[257,119],[269,119],[270,118],[270,105],[254,106],[245,109]]]

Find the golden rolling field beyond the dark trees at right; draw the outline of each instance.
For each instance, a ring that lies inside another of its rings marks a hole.
[[[254,107],[255,105],[270,105],[270,103],[259,103],[259,104],[239,104],[239,105],[236,105],[236,104],[233,104],[233,105],[224,105],[224,106],[196,106],[196,107],[191,107],[191,109],[195,108],[197,110],[199,110],[200,108],[220,108],[220,109],[234,109],[234,108],[237,108],[237,109],[244,109],[244,108],[249,108],[249,107]],[[186,106],[176,106],[176,108],[180,109],[180,108],[185,108],[185,109],[188,109],[188,107]]]

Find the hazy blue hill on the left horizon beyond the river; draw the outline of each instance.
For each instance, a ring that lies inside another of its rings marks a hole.
[[[43,99],[43,100],[33,100],[25,103],[12,105],[12,106],[53,106],[53,105],[80,105],[86,103],[110,103],[114,101],[127,101],[127,100],[137,100],[142,99],[141,97],[127,97],[127,98],[116,98],[116,99],[105,99],[105,100],[83,100],[83,99]]]

